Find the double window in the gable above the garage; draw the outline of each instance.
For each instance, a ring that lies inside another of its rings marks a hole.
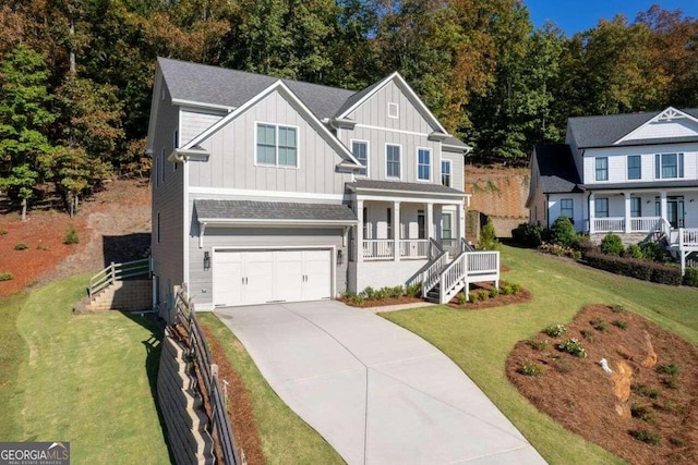
[[[298,130],[257,123],[257,164],[298,168]]]

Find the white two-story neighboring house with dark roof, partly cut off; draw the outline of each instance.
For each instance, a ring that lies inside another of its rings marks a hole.
[[[532,223],[564,215],[592,237],[698,245],[698,109],[570,118],[565,144],[535,146],[530,168]]]

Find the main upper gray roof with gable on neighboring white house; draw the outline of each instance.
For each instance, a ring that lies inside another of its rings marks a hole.
[[[567,131],[571,132],[579,148],[698,142],[698,136],[696,136],[645,140],[630,139],[616,144],[616,142],[624,136],[649,122],[654,117],[658,117],[663,111],[570,118],[567,120]],[[681,111],[693,118],[698,118],[698,108],[689,108]]]

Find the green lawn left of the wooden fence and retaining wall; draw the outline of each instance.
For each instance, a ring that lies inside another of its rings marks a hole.
[[[70,441],[74,463],[167,464],[152,392],[159,335],[117,311],[72,315],[86,283],[0,301],[0,440]]]

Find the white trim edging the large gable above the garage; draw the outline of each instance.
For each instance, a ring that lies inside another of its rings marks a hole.
[[[250,100],[245,101],[240,107],[236,108],[233,111],[228,113],[226,117],[221,118],[217,123],[213,124],[210,127],[198,134],[196,137],[191,139],[183,148],[192,148],[196,145],[201,144],[203,140],[207,139],[222,127],[228,125],[232,120],[237,119],[239,115],[243,114],[250,108],[254,107],[256,103],[262,101],[267,96],[272,95],[274,91],[278,91],[281,97],[286,98],[287,101],[290,100],[291,106],[296,105],[301,111],[302,115],[305,117],[306,121],[315,126],[315,131],[333,147],[337,155],[345,160],[349,160],[356,164],[360,164],[357,159],[351,155],[351,151],[327,129],[322,121],[315,117],[315,114],[310,111],[310,109],[288,88],[282,81],[276,81],[274,84],[269,85],[266,89],[262,90],[260,94],[255,95]]]

